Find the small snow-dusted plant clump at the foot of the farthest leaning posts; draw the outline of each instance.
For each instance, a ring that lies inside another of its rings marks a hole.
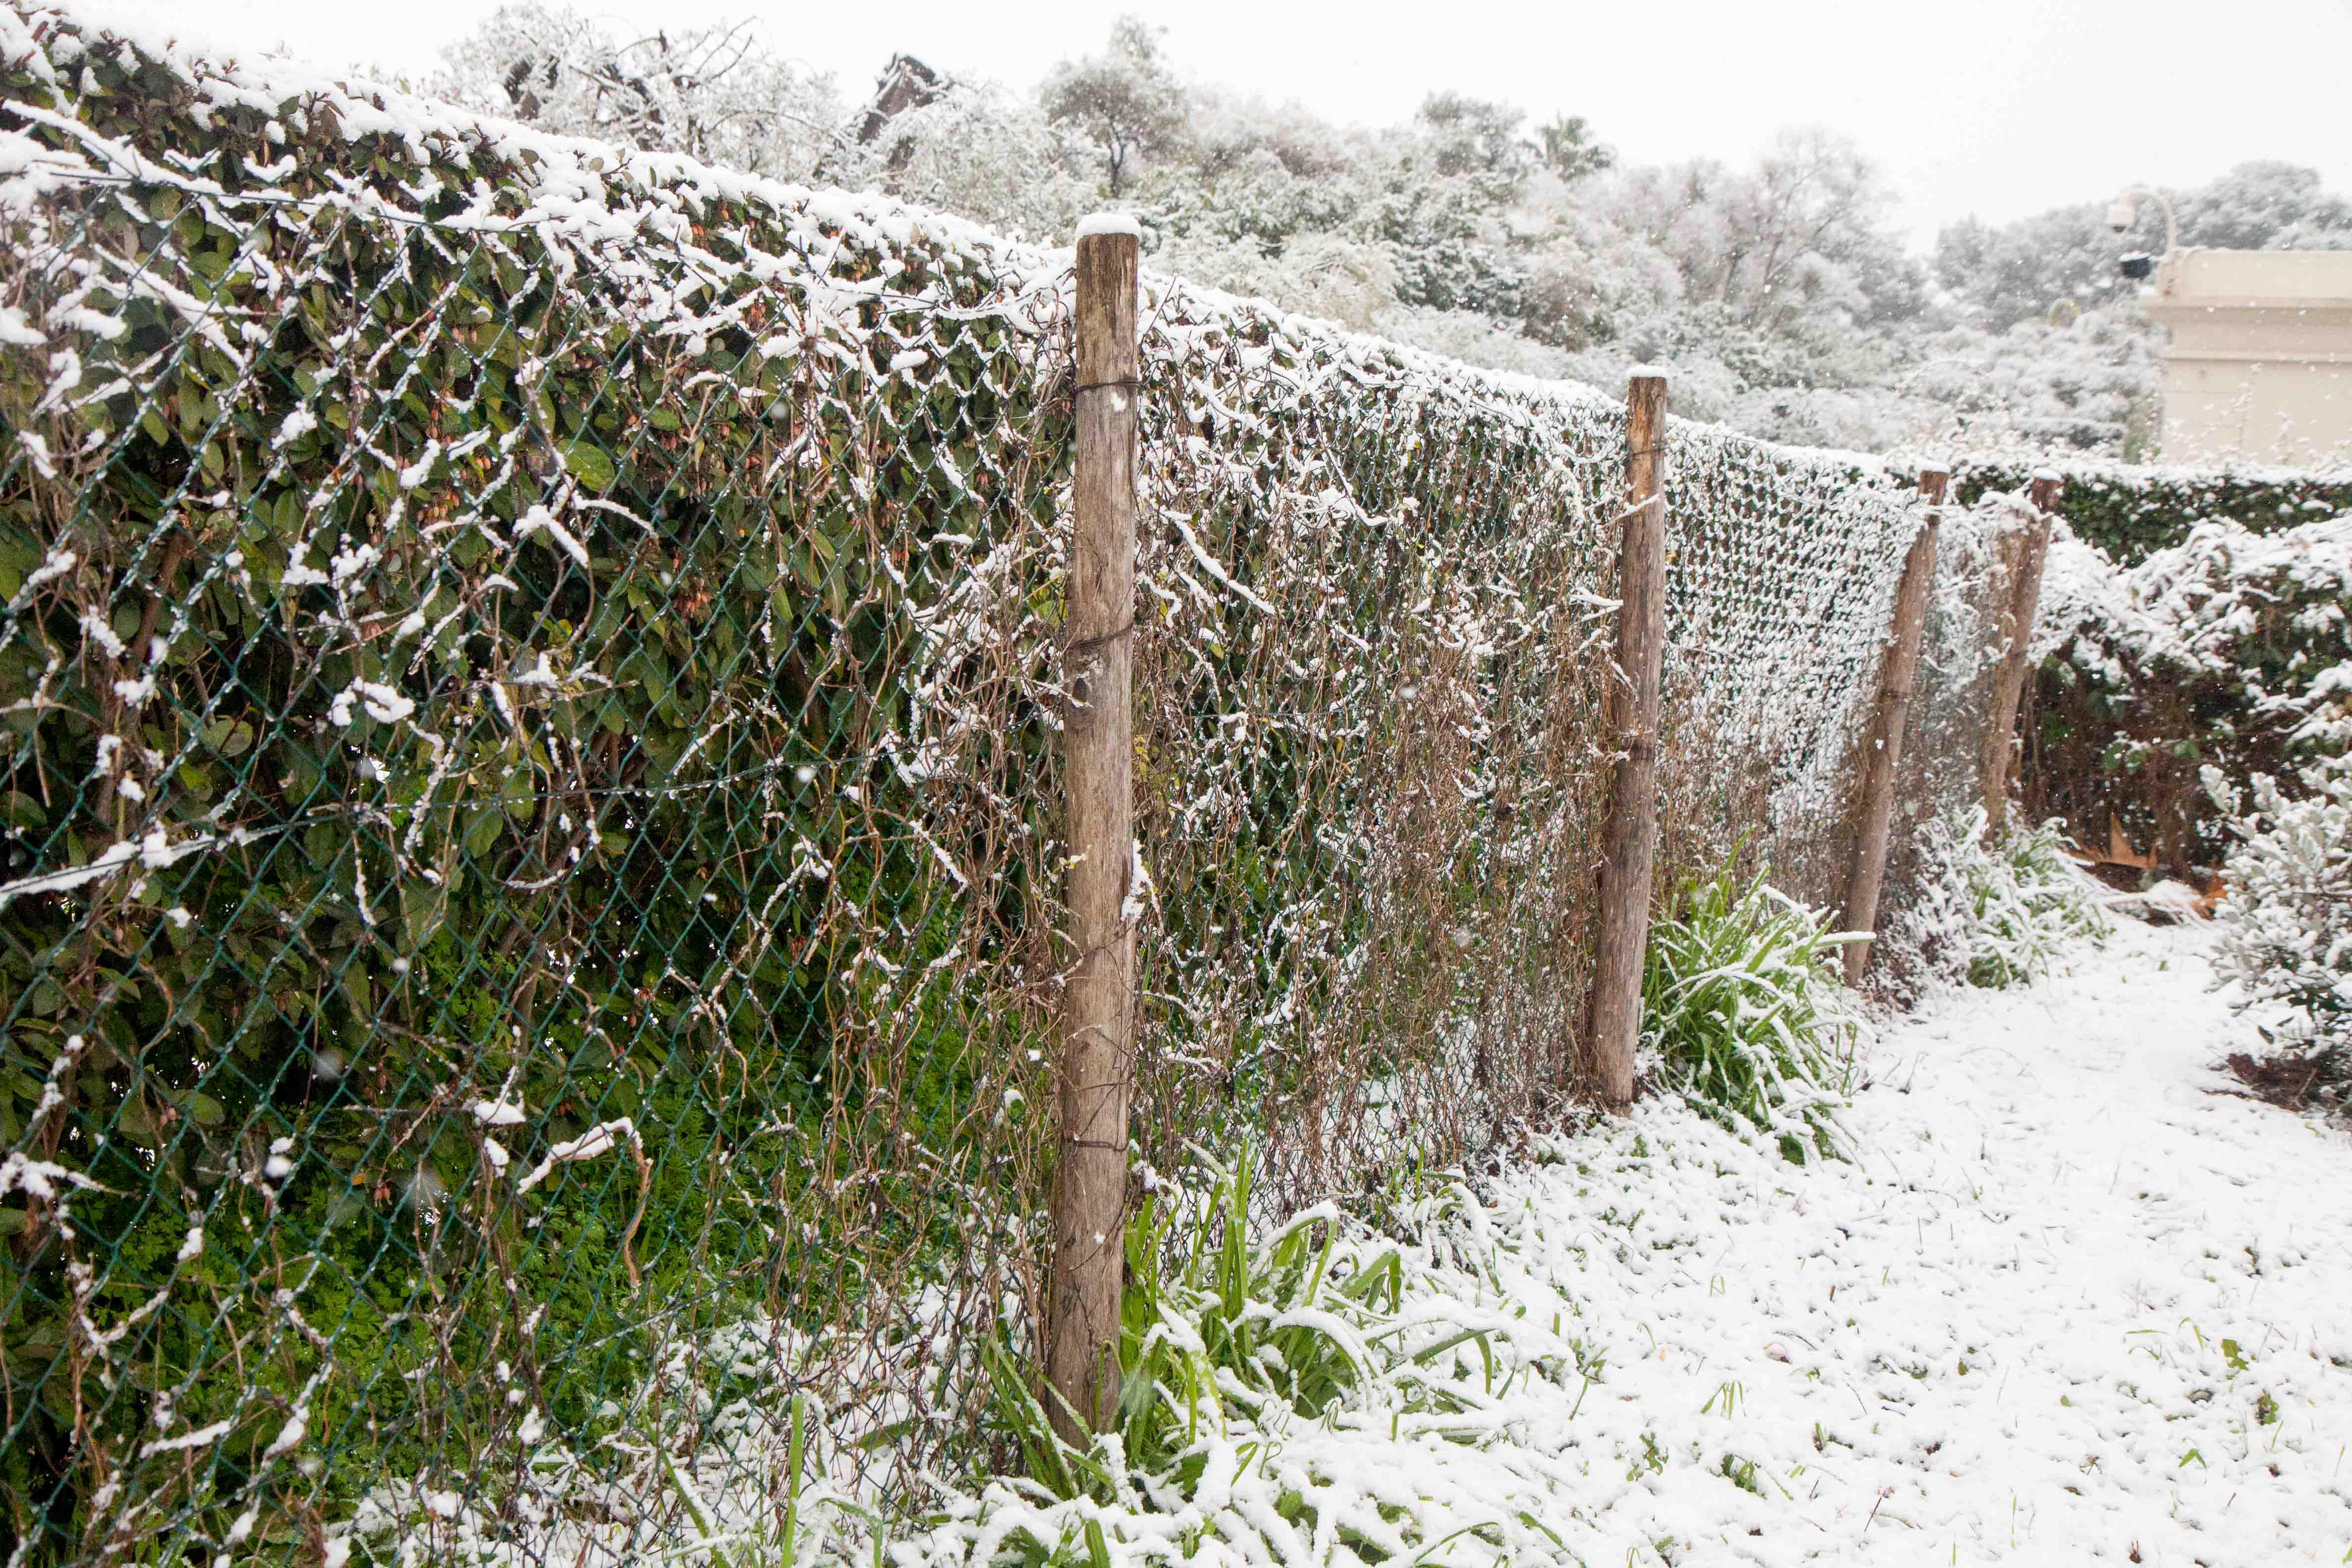
[[[1919,980],[2032,985],[2074,938],[2110,931],[2093,884],[2065,853],[2056,823],[1985,842],[1985,811],[1919,830],[1924,875],[1886,947]]]

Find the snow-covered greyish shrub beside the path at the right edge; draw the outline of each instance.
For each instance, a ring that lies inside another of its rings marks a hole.
[[[2274,1051],[2310,1065],[2303,1091],[2352,1100],[2352,759],[2303,771],[2288,799],[2253,776],[2251,804],[2220,776],[2204,785],[2227,813],[2230,896],[2216,914],[2213,971],[2239,987],[2237,1006],[2263,1018]]]

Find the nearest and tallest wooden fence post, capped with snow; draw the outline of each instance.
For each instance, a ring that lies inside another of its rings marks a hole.
[[[1136,254],[1122,219],[1077,230],[1077,463],[1063,623],[1063,835],[1070,978],[1063,992],[1054,1274],[1044,1375],[1054,1427],[1084,1443],[1120,1399],[1127,1093],[1134,1072]]]

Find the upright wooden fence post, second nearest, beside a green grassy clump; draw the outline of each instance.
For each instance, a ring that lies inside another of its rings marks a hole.
[[[1618,548],[1618,675],[1609,729],[1618,762],[1602,830],[1599,922],[1592,938],[1592,1070],[1602,1105],[1632,1105],[1642,1037],[1642,957],[1658,858],[1658,675],[1665,663],[1665,376],[1625,386],[1625,538]]]

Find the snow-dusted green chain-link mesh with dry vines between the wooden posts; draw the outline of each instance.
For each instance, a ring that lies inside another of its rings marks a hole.
[[[12,1561],[710,1559],[795,1408],[903,1497],[1042,1265],[1065,254],[0,59]],[[1623,411],[1143,313],[1138,1164],[1465,1161],[1578,1072]],[[1917,510],[1672,435],[1665,872],[1832,900]]]

